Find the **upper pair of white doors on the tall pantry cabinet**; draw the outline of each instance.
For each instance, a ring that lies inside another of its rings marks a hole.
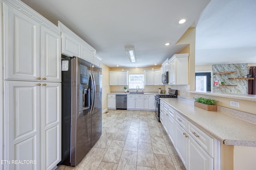
[[[4,5],[4,79],[61,82],[60,32]],[[40,54],[41,52],[41,54]]]

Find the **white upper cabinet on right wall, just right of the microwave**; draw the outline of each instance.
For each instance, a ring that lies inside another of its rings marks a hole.
[[[175,54],[169,60],[169,83],[188,84],[188,56],[189,53]]]

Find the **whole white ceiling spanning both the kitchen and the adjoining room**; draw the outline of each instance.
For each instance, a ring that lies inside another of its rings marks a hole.
[[[230,52],[239,55],[240,60],[244,55],[254,57],[254,61],[256,58],[255,0],[22,1],[52,23],[58,25],[61,21],[94,47],[102,63],[110,67],[160,66],[186,47],[175,43],[196,24],[196,64],[212,64],[216,59],[227,63],[230,56],[236,61]],[[187,22],[179,25],[178,20],[184,17]],[[171,45],[165,46],[167,42]],[[130,63],[125,45],[134,45],[136,63]]]

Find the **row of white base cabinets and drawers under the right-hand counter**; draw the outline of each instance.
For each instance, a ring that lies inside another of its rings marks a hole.
[[[187,170],[220,169],[220,143],[216,139],[185,119],[163,100],[160,100],[160,120]]]

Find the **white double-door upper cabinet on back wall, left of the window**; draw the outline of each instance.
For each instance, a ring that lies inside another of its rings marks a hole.
[[[109,85],[128,85],[128,71],[109,71]]]

